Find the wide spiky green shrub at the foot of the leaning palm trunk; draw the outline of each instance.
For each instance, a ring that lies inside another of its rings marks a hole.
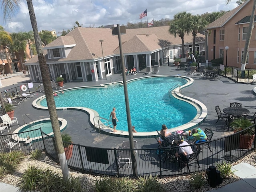
[[[64,181],[56,172],[47,168],[42,170],[35,166],[28,166],[20,178],[18,187],[22,192],[26,191],[44,191],[44,192],[80,192],[81,184],[79,178],[70,178],[70,181]]]

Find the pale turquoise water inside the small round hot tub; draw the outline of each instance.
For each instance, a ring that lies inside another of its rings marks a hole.
[[[46,134],[50,134],[51,132],[53,132],[51,122],[39,123],[39,124],[32,125],[30,127],[26,126],[26,127],[22,128],[22,130],[20,130],[19,132],[32,131],[32,130],[36,130],[39,128],[41,128],[42,132],[44,132]],[[40,131],[28,132],[28,135],[30,138],[42,136]],[[26,134],[18,134],[18,136],[21,138],[24,138],[24,136],[27,137]]]

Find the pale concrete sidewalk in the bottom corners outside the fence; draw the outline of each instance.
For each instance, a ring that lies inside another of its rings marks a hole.
[[[248,163],[239,163],[235,166],[232,166],[232,170],[236,170],[235,174],[241,178],[234,183],[230,183],[222,188],[210,190],[207,192],[256,192],[256,168]],[[0,192],[16,192],[18,188],[0,183]]]

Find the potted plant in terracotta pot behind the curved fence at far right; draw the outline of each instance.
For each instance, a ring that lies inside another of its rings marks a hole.
[[[252,123],[248,119],[235,119],[230,123],[230,126],[233,128],[234,133],[238,131],[242,131],[248,127],[250,127]],[[254,140],[254,130],[247,129],[246,131],[241,132],[239,139],[239,148],[241,149],[249,149],[252,147],[252,142]]]

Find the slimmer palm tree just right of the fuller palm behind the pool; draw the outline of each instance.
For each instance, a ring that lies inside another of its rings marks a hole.
[[[200,15],[191,16],[191,29],[193,35],[193,53],[196,54],[196,36],[200,30],[204,30],[207,25],[207,21]]]

